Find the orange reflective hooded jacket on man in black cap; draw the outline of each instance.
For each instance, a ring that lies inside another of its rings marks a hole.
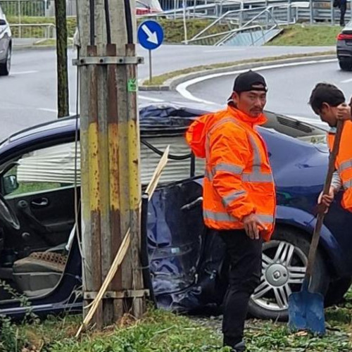
[[[269,240],[275,224],[275,184],[265,142],[251,118],[228,106],[191,124],[186,139],[194,154],[206,158],[203,184],[203,218],[215,230],[243,229],[241,220],[256,213]]]

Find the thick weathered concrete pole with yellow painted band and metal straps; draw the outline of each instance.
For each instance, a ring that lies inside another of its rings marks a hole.
[[[128,228],[130,249],[93,318],[96,327],[145,309],[139,258],[139,125],[134,1],[78,0],[84,306],[96,296]],[[84,311],[87,314],[87,310]]]

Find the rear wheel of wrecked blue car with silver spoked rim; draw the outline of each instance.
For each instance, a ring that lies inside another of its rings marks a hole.
[[[310,239],[290,227],[277,227],[272,240],[263,244],[263,270],[260,284],[249,301],[249,314],[255,318],[286,321],[288,296],[301,290],[306,272]],[[310,291],[325,295],[329,274],[318,249]]]

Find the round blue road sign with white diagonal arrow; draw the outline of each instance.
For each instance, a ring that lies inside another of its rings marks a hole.
[[[164,39],[163,27],[153,20],[141,23],[137,35],[139,44],[148,50],[154,50],[161,46]]]

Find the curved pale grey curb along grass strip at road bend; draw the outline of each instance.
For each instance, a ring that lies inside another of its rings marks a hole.
[[[336,54],[325,54],[325,55],[317,55],[317,56],[298,56],[296,58],[278,58],[277,60],[270,61],[258,61],[256,63],[239,63],[237,65],[231,65],[224,68],[212,68],[209,70],[201,70],[193,73],[186,73],[184,75],[179,75],[177,77],[172,77],[169,80],[165,81],[165,84],[158,86],[143,86],[142,84],[139,86],[140,91],[149,92],[149,91],[170,91],[174,90],[178,84],[186,82],[188,80],[192,80],[196,77],[203,77],[206,75],[211,75],[213,73],[227,73],[234,70],[246,70],[250,68],[256,68],[258,66],[270,66],[277,65],[283,63],[300,63],[305,61],[323,61],[331,58],[336,58]],[[268,59],[268,58],[267,58]],[[265,60],[265,58],[263,58]],[[145,80],[144,80],[145,81]]]

